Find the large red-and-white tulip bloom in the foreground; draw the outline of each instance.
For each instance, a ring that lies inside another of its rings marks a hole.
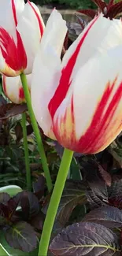
[[[65,33],[54,11],[34,62],[32,106],[47,136],[95,154],[122,130],[122,21],[95,17],[61,61]]]

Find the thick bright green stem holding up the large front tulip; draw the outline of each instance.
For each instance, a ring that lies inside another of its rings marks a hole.
[[[72,161],[72,156],[73,156],[73,152],[71,150],[65,149],[62,160],[61,160],[60,169],[57,174],[57,180],[54,185],[54,191],[52,193],[50,204],[46,213],[46,220],[43,225],[43,233],[39,243],[38,256],[47,255],[47,251],[50,243],[50,236],[54,226],[54,220],[55,220],[57,209],[61,200],[61,195],[65,187],[65,180],[68,176],[68,170]]]

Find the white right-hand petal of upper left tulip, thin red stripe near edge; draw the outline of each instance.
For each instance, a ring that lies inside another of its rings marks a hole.
[[[24,70],[25,74],[32,72],[33,61],[39,49],[43,29],[43,19],[38,7],[31,2],[27,2],[17,24],[17,31],[20,33],[28,58],[28,65]]]

